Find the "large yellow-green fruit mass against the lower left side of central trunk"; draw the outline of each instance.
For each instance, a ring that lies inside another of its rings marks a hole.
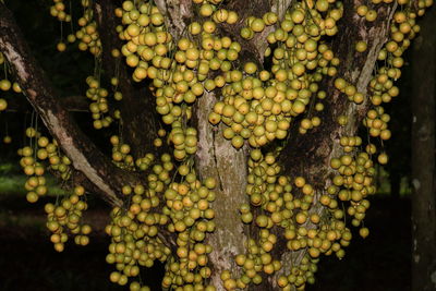
[[[118,145],[119,137],[112,136],[111,142]],[[110,280],[124,286],[130,277],[140,276],[138,266],[152,267],[158,259],[167,264],[162,288],[215,290],[205,284],[211,274],[207,267],[211,247],[204,240],[215,230],[210,203],[216,181],[208,178],[202,183],[190,163],[178,168],[174,180],[170,175],[174,165],[168,154],[161,155],[160,163],[147,154],[135,165],[140,170],[149,169],[147,184],[124,185],[122,194],[129,199],[123,207],[112,209],[112,221],[106,228],[112,238],[107,262],[117,270]],[[177,234],[175,254],[158,238],[161,228]],[[132,281],[130,289],[149,290],[138,281]]]

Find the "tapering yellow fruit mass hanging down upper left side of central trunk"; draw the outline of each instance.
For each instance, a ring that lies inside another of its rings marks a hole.
[[[175,49],[171,35],[166,32],[164,15],[156,5],[124,1],[116,14],[122,19],[123,26],[118,29],[126,44],[121,53],[126,64],[134,68],[132,77],[136,82],[146,77],[153,80],[156,110],[165,124],[171,124],[169,142],[174,145],[175,159],[183,160],[195,154],[197,133],[182,124],[191,119],[192,105],[204,93],[202,74],[205,76],[209,69],[199,63],[203,56],[190,39],[179,39]],[[207,25],[194,26],[191,25],[192,32],[213,29]],[[172,49],[177,51],[170,58],[168,54]],[[160,146],[161,140],[156,143]]]

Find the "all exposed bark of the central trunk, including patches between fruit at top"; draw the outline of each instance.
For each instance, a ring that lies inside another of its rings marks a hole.
[[[230,1],[229,10],[235,10],[242,19],[250,15],[262,16],[269,10],[278,13],[279,17],[284,15],[291,0],[279,0],[270,5],[266,0],[255,1]],[[191,1],[186,0],[157,0],[159,10],[167,15],[167,26],[173,36],[180,35],[184,31],[185,19],[192,17]],[[241,21],[235,27],[220,26],[226,35],[241,40],[240,29],[244,26]],[[242,58],[262,64],[264,51],[268,46],[266,36],[272,27],[265,29],[250,43],[244,41]],[[220,279],[223,270],[229,270],[233,278],[239,277],[241,268],[234,262],[234,256],[245,254],[245,242],[251,235],[252,230],[241,221],[239,207],[247,202],[245,193],[247,175],[247,146],[235,149],[229,141],[223,138],[222,131],[225,125],[214,126],[208,121],[208,114],[217,101],[217,92],[205,93],[195,105],[196,128],[198,130],[198,150],[195,155],[195,167],[201,179],[208,177],[215,178],[217,183],[216,201],[213,203],[215,210],[214,221],[216,230],[208,234],[206,242],[213,246],[209,255],[209,266],[213,269],[210,284],[218,291],[226,290]],[[270,280],[264,280],[262,284],[250,284],[249,290],[279,290],[272,286]]]

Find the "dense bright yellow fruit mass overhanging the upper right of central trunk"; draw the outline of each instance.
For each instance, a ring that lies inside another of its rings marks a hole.
[[[313,16],[306,17],[306,13]],[[242,147],[245,140],[252,147],[259,147],[276,138],[286,138],[290,123],[307,112],[311,100],[325,98],[318,83],[323,75],[336,75],[335,66],[339,60],[320,37],[336,34],[335,23],[341,15],[340,5],[329,10],[323,19],[317,10],[298,3],[286,13],[280,28],[267,37],[270,47],[265,56],[272,58],[270,71],[259,71],[252,62],[245,63],[243,72],[227,72],[221,68],[225,74],[219,84],[222,86],[226,82],[227,85],[222,88],[223,99],[215,105],[209,121],[213,124],[222,121],[228,126],[223,136],[231,140],[235,148]],[[241,34],[250,39],[265,25],[274,25],[277,21],[278,16],[271,12],[263,19],[249,17],[247,27]],[[274,50],[272,46],[276,47]],[[316,105],[317,111],[323,108],[320,102]],[[319,124],[318,117],[306,117],[300,121],[300,133]]]

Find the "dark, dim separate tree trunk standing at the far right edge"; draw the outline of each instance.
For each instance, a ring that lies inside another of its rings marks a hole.
[[[412,290],[436,290],[435,75],[436,13],[424,19],[413,49]]]

